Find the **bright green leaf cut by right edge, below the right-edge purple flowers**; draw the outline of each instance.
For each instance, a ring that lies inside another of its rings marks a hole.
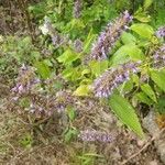
[[[165,91],[165,72],[164,70],[151,70],[152,80]]]

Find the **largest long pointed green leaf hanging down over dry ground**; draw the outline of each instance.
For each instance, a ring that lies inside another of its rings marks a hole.
[[[141,138],[144,138],[135,110],[125,98],[119,95],[112,95],[109,106],[124,124]]]

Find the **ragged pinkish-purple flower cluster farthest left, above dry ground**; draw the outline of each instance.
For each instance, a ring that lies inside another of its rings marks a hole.
[[[41,80],[35,77],[35,69],[23,65],[20,68],[16,85],[11,89],[12,92],[23,95],[32,91],[33,87],[37,86]]]

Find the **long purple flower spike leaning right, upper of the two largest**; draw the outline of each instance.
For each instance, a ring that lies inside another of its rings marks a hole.
[[[109,23],[106,31],[101,32],[97,42],[91,48],[91,59],[105,59],[111,51],[121,33],[128,29],[128,24],[132,21],[132,16],[125,11],[113,23]]]

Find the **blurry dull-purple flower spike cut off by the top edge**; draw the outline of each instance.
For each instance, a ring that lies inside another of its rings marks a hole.
[[[75,2],[74,2],[74,18],[75,19],[80,18],[81,8],[82,8],[82,1],[81,0],[75,0]]]

